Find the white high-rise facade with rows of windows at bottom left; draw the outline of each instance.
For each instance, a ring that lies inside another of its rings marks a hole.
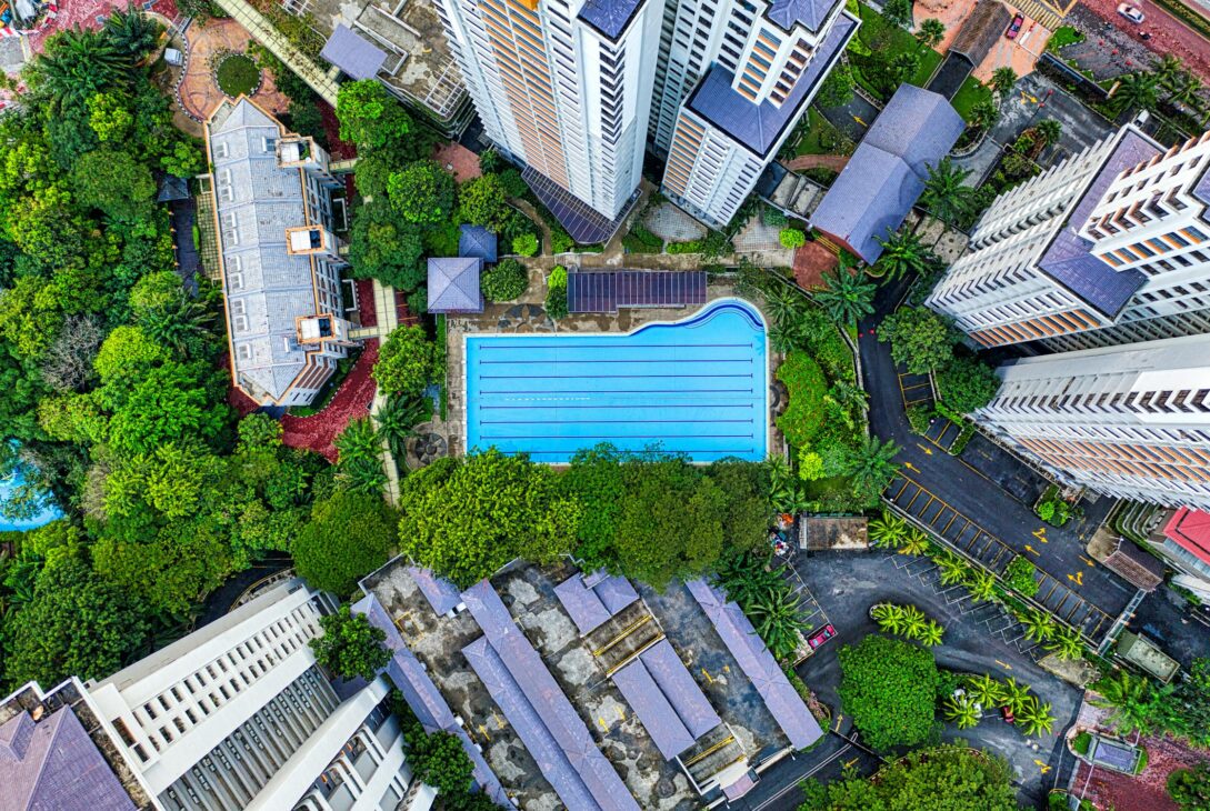
[[[430,809],[434,790],[411,777],[386,680],[334,684],[316,663],[309,642],[334,608],[292,580],[85,686],[154,807]]]

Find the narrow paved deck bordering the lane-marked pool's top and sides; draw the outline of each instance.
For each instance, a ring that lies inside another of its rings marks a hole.
[[[586,334],[607,333],[623,334],[653,322],[673,322],[688,318],[710,306],[716,299],[741,298],[734,293],[731,280],[711,278],[707,287],[707,301],[701,306],[687,307],[651,307],[623,309],[616,314],[570,315],[554,322],[546,315],[543,299],[546,297],[546,274],[530,270],[530,286],[517,301],[488,304],[479,315],[449,316],[446,321],[446,369],[445,386],[448,393],[446,420],[434,424],[434,430],[445,436],[449,454],[457,456],[466,453],[466,335],[474,334]],[[766,323],[768,316],[760,305],[743,299],[753,309],[761,311]],[[767,379],[776,383],[774,372],[782,362],[782,356],[770,346],[766,352],[768,364]],[[778,403],[776,392],[770,392],[768,403]],[[771,407],[765,419],[768,428],[768,453],[782,456],[785,454],[785,442],[777,430],[776,408]]]

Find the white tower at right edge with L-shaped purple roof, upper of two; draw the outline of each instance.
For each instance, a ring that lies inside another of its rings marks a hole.
[[[1002,195],[928,299],[984,346],[1113,346],[1210,332],[1210,133],[1131,127]]]

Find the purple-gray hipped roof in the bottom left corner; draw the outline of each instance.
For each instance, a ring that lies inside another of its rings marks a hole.
[[[40,721],[22,712],[0,726],[0,810],[134,811],[70,707]]]

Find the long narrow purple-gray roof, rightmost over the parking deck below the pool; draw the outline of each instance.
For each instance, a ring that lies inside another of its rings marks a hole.
[[[705,611],[739,669],[765,700],[790,744],[802,749],[818,741],[823,730],[741,608],[704,580],[691,580],[685,586]]]

